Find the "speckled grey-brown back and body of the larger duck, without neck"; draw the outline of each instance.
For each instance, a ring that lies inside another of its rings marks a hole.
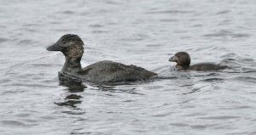
[[[154,72],[135,65],[124,65],[113,61],[99,61],[79,71],[79,76],[90,82],[134,82],[144,81]]]

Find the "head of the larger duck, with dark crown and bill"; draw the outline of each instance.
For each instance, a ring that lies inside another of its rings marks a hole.
[[[79,59],[84,53],[84,42],[77,35],[67,34],[47,48],[48,51],[60,51],[65,57]]]

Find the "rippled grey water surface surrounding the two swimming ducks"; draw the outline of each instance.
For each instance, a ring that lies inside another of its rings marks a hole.
[[[27,134],[256,134],[256,2],[246,0],[8,0],[0,2],[0,132]],[[168,79],[118,86],[58,82],[67,33],[83,66],[103,59]],[[192,63],[232,70],[176,72]]]

